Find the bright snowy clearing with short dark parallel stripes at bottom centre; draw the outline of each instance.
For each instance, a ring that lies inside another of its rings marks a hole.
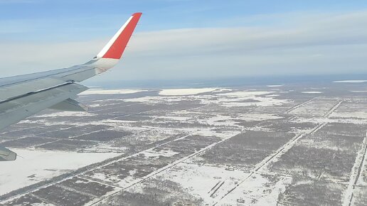
[[[213,205],[216,202],[219,203],[218,205],[238,205],[238,199],[241,197],[244,198],[245,205],[252,205],[253,203],[250,204],[252,200],[257,200],[255,205],[276,205],[278,195],[284,192],[292,180],[284,177],[277,182],[272,182],[260,174],[255,174],[223,200],[221,199],[248,175],[249,173],[241,170],[227,170],[185,161],[160,173],[156,178],[179,183],[189,193],[203,198],[204,205]],[[267,190],[264,189],[265,185]]]

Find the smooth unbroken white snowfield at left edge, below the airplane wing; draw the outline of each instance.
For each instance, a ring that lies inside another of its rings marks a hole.
[[[16,161],[1,162],[0,195],[119,155],[118,153],[34,151],[18,148],[11,150],[24,158],[18,156]]]

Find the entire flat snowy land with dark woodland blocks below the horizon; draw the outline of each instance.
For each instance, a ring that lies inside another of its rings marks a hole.
[[[0,205],[366,205],[365,87],[87,90],[2,131]]]

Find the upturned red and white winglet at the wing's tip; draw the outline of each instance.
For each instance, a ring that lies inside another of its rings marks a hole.
[[[127,20],[127,22],[119,29],[115,36],[110,40],[109,43],[103,48],[103,50],[97,55],[100,58],[119,59],[124,53],[127,43],[129,42],[132,33],[139,21],[142,13],[134,13]],[[108,50],[107,50],[108,49]],[[107,50],[107,51],[106,51]]]

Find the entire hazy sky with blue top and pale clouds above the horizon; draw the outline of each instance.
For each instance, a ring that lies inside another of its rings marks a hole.
[[[1,76],[85,63],[138,11],[90,82],[367,73],[364,0],[0,0]]]

